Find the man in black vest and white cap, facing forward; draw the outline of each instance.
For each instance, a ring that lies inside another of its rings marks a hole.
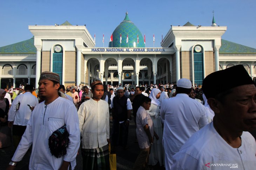
[[[117,96],[111,102],[113,128],[112,128],[112,149],[121,145],[127,149],[128,129],[130,124],[130,114],[132,103],[129,98],[124,95],[122,87],[117,88]]]

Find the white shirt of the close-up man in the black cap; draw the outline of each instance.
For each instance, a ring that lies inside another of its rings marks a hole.
[[[241,146],[231,147],[215,130],[213,122],[194,133],[173,156],[171,169],[252,170],[256,167],[256,143],[249,132],[243,132]]]

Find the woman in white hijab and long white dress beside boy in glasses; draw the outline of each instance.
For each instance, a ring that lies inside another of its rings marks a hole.
[[[162,145],[162,140],[163,140],[162,123],[161,123],[161,118],[159,116],[160,95],[161,95],[161,91],[157,88],[153,88],[149,95],[149,98],[151,99],[151,105],[147,112],[150,114],[150,117],[154,124],[154,131],[158,135],[159,139],[154,140],[154,143],[151,146],[148,164],[156,165],[157,162],[159,162],[160,166],[162,166],[164,163],[164,149]]]

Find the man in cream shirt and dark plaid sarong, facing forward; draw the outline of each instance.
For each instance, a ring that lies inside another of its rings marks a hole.
[[[83,102],[78,110],[83,170],[108,170],[109,105],[101,100],[104,94],[101,81],[94,81],[91,88],[93,97]]]

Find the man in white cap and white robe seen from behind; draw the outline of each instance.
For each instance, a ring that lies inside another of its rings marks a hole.
[[[177,82],[177,95],[164,99],[160,115],[164,122],[163,145],[166,170],[171,169],[173,155],[200,128],[208,124],[204,106],[190,98],[191,82],[180,79]]]

